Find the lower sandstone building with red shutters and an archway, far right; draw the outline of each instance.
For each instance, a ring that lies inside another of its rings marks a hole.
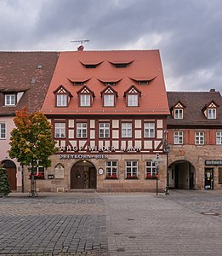
[[[169,186],[222,189],[222,97],[219,91],[169,91]]]

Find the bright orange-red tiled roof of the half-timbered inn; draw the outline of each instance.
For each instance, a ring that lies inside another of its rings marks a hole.
[[[133,61],[127,67],[117,68],[111,62],[125,63]],[[82,63],[99,63],[95,68],[86,68]],[[130,78],[154,78],[149,84],[137,84]],[[67,79],[69,78],[69,79]],[[78,106],[77,91],[83,85],[73,85],[75,78],[91,78],[85,83],[94,91],[92,108]],[[111,79],[112,78],[112,79]],[[104,81],[115,82],[113,87],[118,94],[115,108],[103,108],[101,91]],[[67,108],[56,108],[53,91],[62,84],[73,96]],[[124,93],[132,84],[141,91],[139,107],[128,108]],[[162,72],[162,63],[158,50],[111,50],[111,51],[73,51],[61,52],[54,77],[43,103],[46,114],[168,114],[168,99]]]

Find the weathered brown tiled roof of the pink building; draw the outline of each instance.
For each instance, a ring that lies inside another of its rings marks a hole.
[[[0,52],[0,115],[13,115],[24,107],[29,112],[40,110],[58,56],[57,52]],[[9,92],[24,92],[14,107],[4,106],[4,93]]]

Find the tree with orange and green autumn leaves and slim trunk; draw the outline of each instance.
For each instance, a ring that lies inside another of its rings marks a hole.
[[[26,108],[16,111],[11,131],[9,156],[21,166],[30,166],[31,196],[36,196],[34,172],[39,166],[51,166],[49,157],[57,151],[52,137],[52,125],[43,113],[28,113]]]

